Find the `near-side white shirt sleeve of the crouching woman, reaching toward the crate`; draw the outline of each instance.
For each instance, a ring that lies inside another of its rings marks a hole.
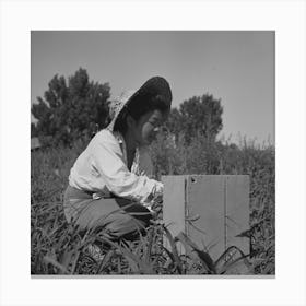
[[[92,158],[108,190],[118,197],[150,205],[152,199],[163,193],[162,183],[128,169],[121,148],[111,133],[105,132],[92,143]]]

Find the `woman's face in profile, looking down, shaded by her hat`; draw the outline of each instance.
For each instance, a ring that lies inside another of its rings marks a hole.
[[[165,119],[165,115],[155,109],[142,115],[138,121],[133,121],[132,130],[137,145],[150,144],[156,138]]]

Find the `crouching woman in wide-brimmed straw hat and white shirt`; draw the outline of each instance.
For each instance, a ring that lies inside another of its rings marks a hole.
[[[161,76],[111,102],[111,122],[71,168],[63,203],[68,222],[80,231],[103,229],[110,239],[132,239],[150,225],[163,184],[152,179],[146,145],[166,120],[170,103],[170,87]]]

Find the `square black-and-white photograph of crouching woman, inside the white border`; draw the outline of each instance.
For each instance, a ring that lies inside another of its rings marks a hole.
[[[275,275],[273,31],[31,32],[32,275]]]

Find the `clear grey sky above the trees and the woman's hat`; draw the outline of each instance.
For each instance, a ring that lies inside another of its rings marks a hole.
[[[31,103],[80,67],[108,82],[110,97],[154,75],[169,82],[173,107],[212,94],[223,106],[219,138],[274,144],[274,32],[32,31]]]

